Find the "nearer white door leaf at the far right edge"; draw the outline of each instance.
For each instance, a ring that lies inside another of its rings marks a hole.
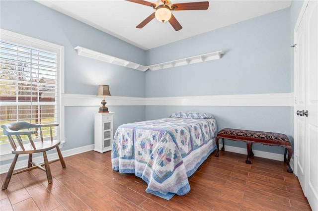
[[[306,140],[308,141],[307,199],[318,210],[318,1],[310,1],[306,11]]]

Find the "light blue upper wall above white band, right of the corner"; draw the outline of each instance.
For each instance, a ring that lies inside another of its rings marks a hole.
[[[149,50],[150,64],[224,51],[221,59],[146,72],[146,97],[291,92],[290,10]]]

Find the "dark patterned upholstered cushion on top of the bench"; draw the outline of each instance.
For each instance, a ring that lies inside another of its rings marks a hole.
[[[246,137],[248,139],[266,139],[266,140],[272,140],[272,141],[289,142],[288,137],[282,133],[224,128],[219,131],[218,136],[222,136],[222,134],[236,136],[237,138]]]

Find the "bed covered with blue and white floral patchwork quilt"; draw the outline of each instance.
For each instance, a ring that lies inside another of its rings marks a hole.
[[[168,118],[123,124],[114,134],[112,168],[147,182],[166,200],[190,191],[188,177],[216,149],[212,114],[178,112]]]

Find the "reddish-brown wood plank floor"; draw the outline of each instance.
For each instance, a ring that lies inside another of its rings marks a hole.
[[[111,168],[111,153],[94,151],[52,163],[53,183],[35,169],[13,175],[1,190],[1,211],[291,211],[311,210],[297,177],[286,164],[245,155],[215,152],[189,178],[191,191],[170,201],[145,192],[146,183]],[[0,175],[1,186],[5,174]]]

